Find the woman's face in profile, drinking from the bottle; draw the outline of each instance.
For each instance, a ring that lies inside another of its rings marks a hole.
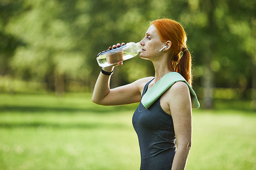
[[[142,46],[140,58],[143,59],[153,59],[154,57],[158,57],[161,54],[159,50],[164,46],[154,25],[148,28],[145,37],[140,41],[140,44]]]

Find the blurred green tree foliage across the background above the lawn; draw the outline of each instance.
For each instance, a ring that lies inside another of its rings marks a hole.
[[[214,87],[246,91],[255,81],[255,9],[254,0],[2,0],[0,76],[46,83],[52,91],[74,82],[92,89],[99,52],[140,41],[149,21],[165,17],[188,35],[195,88],[205,76]],[[154,67],[136,57],[116,67],[112,87],[145,76],[154,76]]]

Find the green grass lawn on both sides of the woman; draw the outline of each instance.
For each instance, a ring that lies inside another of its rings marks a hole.
[[[139,169],[136,106],[98,106],[89,94],[0,94],[0,169]],[[255,141],[255,112],[193,110],[186,169],[256,169]]]

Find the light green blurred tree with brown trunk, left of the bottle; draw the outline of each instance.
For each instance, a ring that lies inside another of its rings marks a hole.
[[[62,4],[57,1],[25,1],[30,10],[12,18],[9,33],[26,46],[17,48],[11,61],[16,76],[47,83],[58,94],[64,91],[64,78],[90,74],[68,21],[62,19]],[[20,34],[22,32],[22,34]]]

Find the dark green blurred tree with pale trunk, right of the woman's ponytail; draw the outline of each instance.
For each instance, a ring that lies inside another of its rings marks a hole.
[[[187,3],[186,12],[180,15],[180,20],[188,26],[189,47],[194,50],[196,60],[195,82],[201,84],[198,80],[202,81],[204,107],[210,109],[212,87],[245,90],[247,86],[251,70],[250,56],[245,53],[245,46],[238,44],[250,30],[245,19],[248,15],[243,11],[254,7],[234,11],[240,8],[242,2],[229,0],[188,0]]]

